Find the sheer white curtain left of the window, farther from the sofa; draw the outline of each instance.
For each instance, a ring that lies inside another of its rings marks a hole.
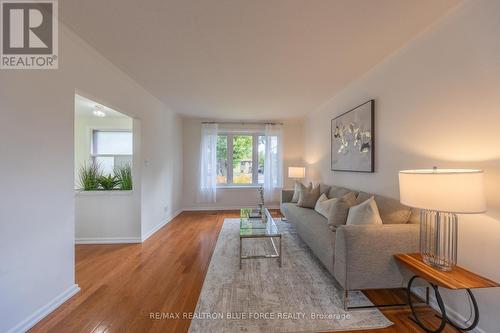
[[[201,124],[198,202],[217,199],[217,124]]]

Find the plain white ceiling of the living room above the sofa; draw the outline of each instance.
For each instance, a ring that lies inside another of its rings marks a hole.
[[[67,26],[175,111],[314,111],[461,0],[64,0]]]

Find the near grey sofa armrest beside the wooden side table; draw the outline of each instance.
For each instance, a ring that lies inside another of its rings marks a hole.
[[[345,290],[401,288],[410,272],[396,253],[418,252],[418,224],[342,225],[336,230],[334,276]]]

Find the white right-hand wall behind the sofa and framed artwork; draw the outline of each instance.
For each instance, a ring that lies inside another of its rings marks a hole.
[[[311,179],[398,198],[398,171],[474,167],[486,172],[489,212],[461,216],[459,264],[500,281],[500,2],[468,1],[310,115]],[[376,172],[330,171],[330,120],[374,98]],[[477,290],[480,327],[500,327],[500,288]],[[446,294],[468,317],[463,293]]]

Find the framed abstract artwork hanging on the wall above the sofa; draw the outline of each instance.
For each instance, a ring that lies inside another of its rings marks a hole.
[[[374,172],[374,117],[370,100],[332,119],[333,171]]]

